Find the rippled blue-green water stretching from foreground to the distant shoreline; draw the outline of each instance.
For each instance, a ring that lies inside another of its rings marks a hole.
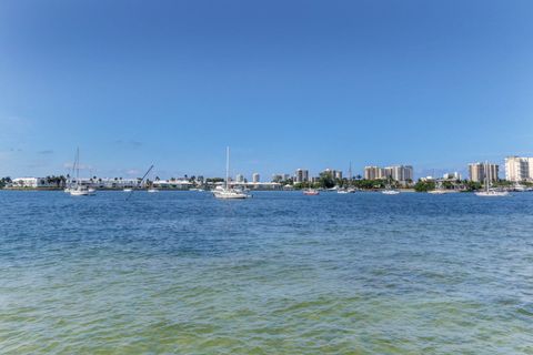
[[[533,354],[533,193],[0,191],[2,354]]]

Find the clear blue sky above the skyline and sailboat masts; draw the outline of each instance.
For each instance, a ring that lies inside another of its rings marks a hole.
[[[1,1],[0,175],[503,163],[532,39],[529,0]]]

